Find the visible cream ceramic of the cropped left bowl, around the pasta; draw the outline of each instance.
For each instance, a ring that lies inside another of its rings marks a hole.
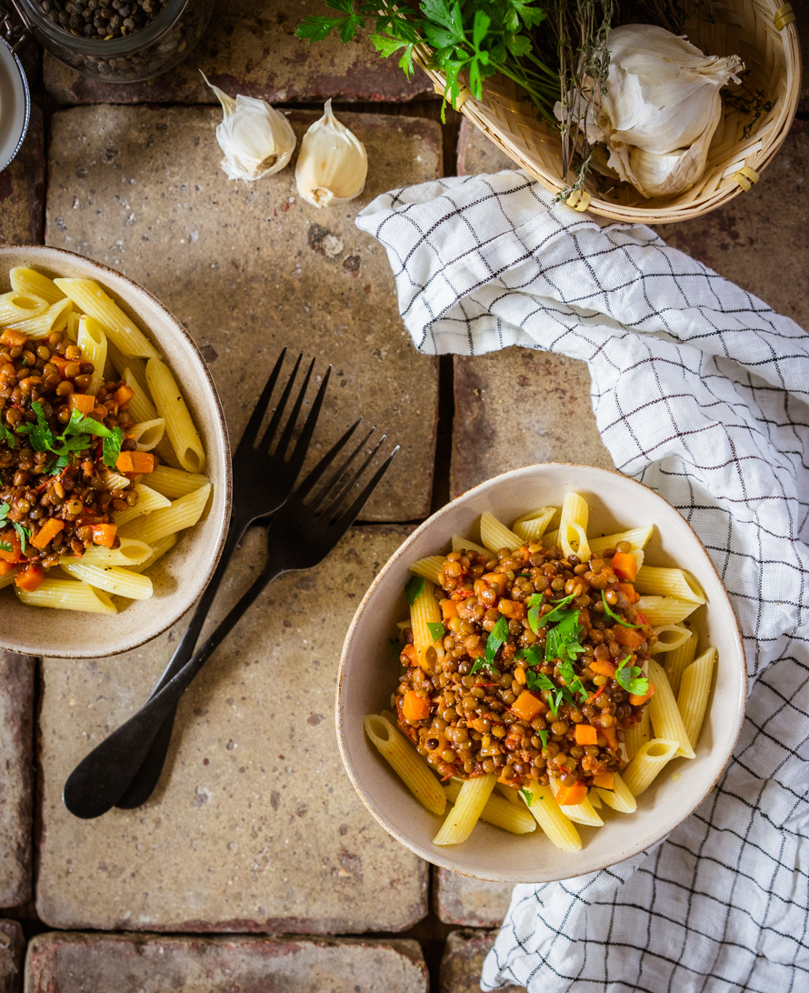
[[[3,245],[0,287],[9,287],[9,270],[17,265],[30,265],[52,277],[96,280],[159,348],[180,383],[202,436],[212,497],[197,525],[184,531],[177,545],[149,570],[155,591],[150,600],[117,598],[119,613],[113,617],[27,607],[10,590],[0,591],[0,647],[63,658],[128,651],[178,621],[202,594],[216,568],[230,517],[232,486],[230,449],[219,398],[188,332],[131,279],[60,248]]]

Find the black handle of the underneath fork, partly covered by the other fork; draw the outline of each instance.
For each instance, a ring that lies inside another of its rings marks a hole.
[[[186,633],[175,649],[174,654],[169,660],[169,664],[163,670],[163,674],[155,685],[155,688],[152,690],[150,699],[177,675],[194,654],[194,647],[197,644],[197,639],[200,637],[208,609],[218,592],[219,581],[224,575],[233,556],[233,552],[236,550],[236,546],[244,536],[244,532],[250,523],[251,521],[249,519],[237,520],[235,516],[231,517],[224,548],[222,549],[216,571],[213,573],[213,578],[205,588],[202,598],[197,605],[197,610],[194,612],[194,616],[186,629]],[[123,793],[115,801],[115,806],[121,807],[123,810],[132,810],[135,807],[142,806],[155,791],[163,773],[163,767],[166,764],[166,756],[169,751],[172,731],[174,729],[174,718],[174,711],[167,715],[166,720],[160,726],[155,740],[152,742],[149,753],[144,758],[143,763],[136,771],[131,782],[126,785]]]

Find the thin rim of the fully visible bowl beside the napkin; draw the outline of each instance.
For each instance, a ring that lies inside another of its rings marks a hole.
[[[479,873],[471,872],[468,867],[465,868],[459,867],[452,860],[452,858],[444,854],[443,850],[437,851],[435,846],[433,846],[432,848],[425,848],[424,846],[406,838],[403,835],[403,833],[399,830],[399,828],[390,821],[390,819],[385,814],[385,812],[378,809],[378,807],[373,803],[370,797],[366,795],[364,789],[362,788],[362,785],[357,779],[354,770],[351,766],[350,760],[348,758],[348,747],[345,741],[345,735],[343,733],[343,726],[344,726],[343,692],[342,692],[343,679],[345,677],[346,659],[348,654],[350,653],[351,640],[353,638],[354,631],[356,630],[360,614],[364,610],[365,605],[370,600],[370,598],[374,596],[376,592],[376,588],[379,586],[384,576],[386,576],[387,573],[395,566],[395,564],[399,561],[399,559],[401,559],[402,555],[407,551],[407,549],[412,544],[415,543],[418,537],[429,526],[432,526],[439,518],[447,514],[451,508],[457,506],[459,503],[463,501],[468,500],[470,497],[472,497],[478,491],[482,490],[484,487],[489,487],[495,481],[500,482],[506,479],[508,480],[516,479],[520,476],[527,476],[529,474],[533,474],[537,469],[540,470],[585,469],[589,472],[593,471],[596,473],[604,473],[607,476],[617,476],[622,482],[626,482],[636,487],[641,487],[643,490],[648,491],[653,495],[653,497],[656,497],[657,499],[665,503],[668,507],[670,507],[680,517],[683,524],[686,527],[688,527],[688,529],[691,531],[693,536],[696,538],[697,542],[699,543],[699,546],[702,548],[705,554],[706,561],[710,563],[710,567],[717,578],[717,581],[723,591],[723,596],[726,605],[729,609],[731,617],[733,618],[732,636],[738,648],[739,659],[741,659],[742,662],[741,664],[742,682],[740,685],[739,706],[736,708],[736,718],[735,718],[736,727],[735,728],[733,726],[731,727],[731,737],[733,740],[730,744],[727,754],[723,757],[722,766],[718,770],[716,776],[714,776],[711,779],[710,784],[707,786],[705,791],[698,797],[698,799],[693,804],[693,806],[691,806],[688,810],[686,810],[685,813],[683,813],[683,815],[678,818],[676,823],[672,824],[671,827],[666,828],[664,832],[657,833],[656,836],[649,841],[643,839],[639,843],[627,845],[627,847],[620,852],[620,855],[618,857],[610,859],[606,862],[601,862],[596,867],[587,868],[586,870],[584,870],[586,873],[599,872],[602,869],[607,869],[609,866],[617,865],[620,862],[624,862],[626,861],[626,859],[632,858],[633,856],[638,855],[641,852],[648,851],[654,845],[658,844],[660,841],[668,837],[668,835],[676,827],[679,827],[679,825],[682,824],[683,821],[686,820],[686,818],[690,817],[691,814],[694,813],[694,811],[703,803],[705,798],[708,796],[708,794],[711,792],[711,790],[720,780],[725,770],[727,769],[728,764],[730,763],[734,752],[736,751],[737,744],[739,743],[739,737],[742,734],[742,726],[744,723],[744,716],[746,713],[746,703],[747,703],[748,676],[747,676],[747,666],[746,666],[746,654],[744,652],[744,642],[742,639],[742,630],[739,625],[739,618],[737,617],[736,610],[734,609],[733,606],[733,602],[731,601],[731,598],[728,595],[727,590],[725,589],[725,585],[722,582],[722,577],[719,574],[719,570],[717,569],[714,560],[711,558],[710,554],[708,553],[708,549],[705,547],[705,544],[703,543],[702,539],[697,534],[697,532],[694,530],[691,523],[688,520],[686,520],[683,514],[677,509],[676,506],[674,506],[673,503],[667,500],[666,497],[661,497],[660,494],[657,493],[657,491],[652,490],[652,488],[647,486],[645,483],[640,483],[638,480],[632,479],[632,477],[630,476],[625,476],[623,473],[617,470],[604,469],[600,466],[586,466],[581,463],[574,463],[574,462],[543,462],[543,463],[535,463],[530,466],[522,466],[518,469],[512,469],[505,473],[499,473],[497,476],[493,476],[490,479],[483,480],[481,483],[478,483],[470,490],[467,490],[465,493],[461,494],[460,496],[455,497],[454,499],[448,501],[447,503],[444,504],[444,506],[439,507],[438,510],[430,514],[429,517],[427,517],[424,521],[422,521],[422,523],[419,524],[418,527],[416,527],[413,530],[413,532],[410,535],[408,535],[407,538],[405,538],[405,540],[398,546],[398,548],[396,548],[396,550],[393,552],[390,558],[388,558],[388,560],[384,563],[382,568],[374,577],[373,582],[365,592],[365,595],[362,597],[362,600],[360,601],[359,606],[357,607],[356,611],[354,612],[354,616],[351,619],[351,623],[348,626],[348,630],[345,633],[345,638],[342,644],[342,650],[340,652],[339,668],[337,670],[337,690],[336,690],[336,698],[335,698],[337,747],[339,749],[339,756],[342,761],[343,769],[345,770],[348,779],[351,781],[351,784],[356,790],[360,800],[362,801],[366,809],[369,811],[369,813],[374,817],[374,819],[392,837],[394,837],[398,842],[403,844],[406,848],[410,849],[410,851],[412,851],[414,854],[418,855],[426,862],[429,862],[431,865],[438,866],[442,869],[449,869],[452,872],[458,873],[461,876],[467,876],[470,879],[477,879],[477,880],[497,882],[497,883],[512,883],[512,884],[554,883],[554,882],[559,882],[560,880],[569,879],[570,873],[560,872],[558,869],[556,871],[551,869],[550,871],[543,873],[543,872],[537,872],[536,869],[526,868],[525,873],[519,879],[517,879],[515,878],[513,873],[498,873],[494,870],[491,871],[483,870]],[[368,748],[370,748],[370,745],[368,745],[367,742],[366,745]],[[449,851],[452,851],[452,849],[450,848]],[[580,872],[575,873],[575,875],[577,876],[581,874],[582,873]]]

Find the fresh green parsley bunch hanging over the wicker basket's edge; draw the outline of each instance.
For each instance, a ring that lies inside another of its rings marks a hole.
[[[337,16],[305,18],[296,31],[299,38],[317,42],[335,31],[346,44],[365,27],[366,17],[372,18],[374,48],[385,59],[401,53],[399,66],[407,76],[413,74],[416,47],[432,49],[430,68],[447,77],[445,105],[456,105],[462,73],[472,96],[480,99],[483,79],[499,72],[520,85],[540,113],[554,119],[559,74],[537,55],[532,32],[546,18],[537,0],[326,0],[326,5]]]

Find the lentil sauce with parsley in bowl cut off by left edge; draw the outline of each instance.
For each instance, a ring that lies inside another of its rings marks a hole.
[[[37,589],[61,556],[116,547],[112,512],[138,500],[139,477],[127,472],[134,391],[118,380],[90,394],[93,372],[60,332],[0,335],[0,576],[19,569],[22,590]]]

